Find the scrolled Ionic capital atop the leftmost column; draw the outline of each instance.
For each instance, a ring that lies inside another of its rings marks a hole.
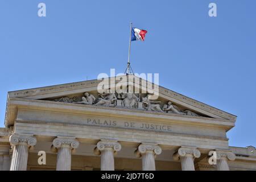
[[[16,146],[17,144],[26,144],[28,147],[35,146],[37,140],[33,135],[28,134],[13,134],[10,136],[10,144]]]

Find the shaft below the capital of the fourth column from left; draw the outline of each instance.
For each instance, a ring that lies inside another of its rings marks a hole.
[[[147,151],[142,155],[142,170],[155,171],[155,155],[153,152]]]

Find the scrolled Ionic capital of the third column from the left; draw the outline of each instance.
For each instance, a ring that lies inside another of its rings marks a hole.
[[[94,148],[94,154],[100,155],[103,150],[113,150],[114,154],[121,150],[121,144],[113,140],[101,140]]]

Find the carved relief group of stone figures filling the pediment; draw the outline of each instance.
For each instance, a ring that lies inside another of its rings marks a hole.
[[[141,99],[142,98],[142,99]],[[146,94],[145,97],[141,94],[135,93],[122,93],[116,94],[112,90],[98,94],[98,97],[94,97],[93,94],[88,92],[84,93],[84,96],[80,97],[60,97],[56,98],[53,101],[56,102],[66,102],[74,104],[84,104],[84,105],[96,105],[96,106],[108,106],[108,107],[125,107],[128,109],[139,109],[146,111],[155,111],[161,113],[173,113],[180,115],[191,115],[191,116],[201,116],[197,113],[194,113],[188,109],[180,109],[180,107],[174,105],[171,101],[167,101],[166,104],[163,104],[162,101],[153,101],[150,100],[150,94]]]

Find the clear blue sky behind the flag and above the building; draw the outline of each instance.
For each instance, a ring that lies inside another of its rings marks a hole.
[[[46,3],[46,17],[38,4]],[[210,2],[217,17],[208,16]],[[256,1],[0,0],[0,126],[7,92],[125,71],[129,23],[136,73],[237,115],[230,146],[256,146]]]

